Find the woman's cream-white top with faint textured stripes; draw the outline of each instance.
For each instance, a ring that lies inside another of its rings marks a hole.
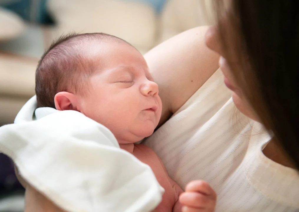
[[[263,155],[269,139],[235,108],[218,70],[144,143],[182,188],[210,183],[216,211],[299,211],[299,175]]]

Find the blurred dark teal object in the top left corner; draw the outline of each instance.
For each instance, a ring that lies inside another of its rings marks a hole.
[[[51,24],[51,17],[46,10],[46,1],[47,0],[0,0],[0,6],[12,10],[28,22]]]

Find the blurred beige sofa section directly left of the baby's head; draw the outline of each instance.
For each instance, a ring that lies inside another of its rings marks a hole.
[[[19,110],[34,95],[37,61],[0,53],[0,125],[13,123]]]

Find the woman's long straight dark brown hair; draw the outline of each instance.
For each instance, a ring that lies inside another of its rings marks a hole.
[[[224,57],[260,121],[299,168],[299,1],[217,1]]]

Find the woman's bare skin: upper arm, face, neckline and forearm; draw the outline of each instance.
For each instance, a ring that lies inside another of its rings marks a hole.
[[[207,30],[208,27],[198,27],[183,32],[153,48],[144,56],[155,82],[159,85],[162,99],[163,111],[158,126],[165,123],[218,69],[219,54],[222,55],[218,32],[215,27],[211,27],[208,32]],[[224,58],[220,60],[220,65],[225,82],[233,91],[234,103],[242,113],[258,121],[258,117],[234,82]],[[279,164],[294,167],[275,142],[269,142],[263,153]],[[22,184],[26,188],[25,212],[63,212],[29,184],[24,181]]]

